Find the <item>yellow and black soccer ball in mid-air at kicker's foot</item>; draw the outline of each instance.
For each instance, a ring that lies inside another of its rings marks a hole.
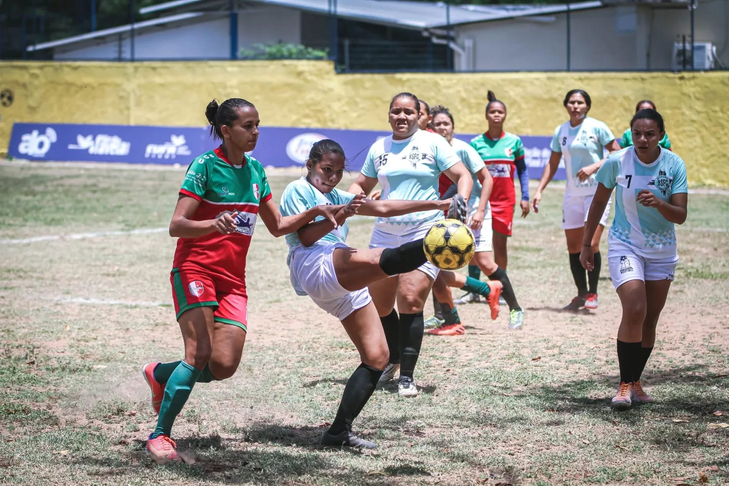
[[[423,249],[429,262],[442,270],[457,270],[471,261],[476,249],[473,232],[457,219],[443,219],[428,230]]]

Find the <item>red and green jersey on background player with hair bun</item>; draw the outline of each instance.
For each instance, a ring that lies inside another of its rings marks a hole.
[[[494,189],[491,189],[489,201],[494,205],[514,205],[516,161],[524,158],[521,138],[513,133],[502,132],[501,136],[494,140],[486,132],[474,138],[471,146],[476,149],[491,177],[494,178]]]

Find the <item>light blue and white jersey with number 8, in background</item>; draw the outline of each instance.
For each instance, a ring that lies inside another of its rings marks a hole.
[[[585,117],[580,125],[572,127],[564,122],[554,130],[552,150],[560,152],[564,157],[564,169],[567,176],[565,197],[588,196],[595,194],[597,181],[595,174],[585,181],[577,178],[577,172],[603,158],[604,147],[615,140],[607,125],[594,118]]]

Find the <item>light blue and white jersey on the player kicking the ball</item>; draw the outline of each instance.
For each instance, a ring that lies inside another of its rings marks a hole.
[[[294,216],[320,204],[347,204],[352,198],[354,198],[354,194],[340,191],[337,188],[332,189],[332,192],[324,194],[309,184],[305,177],[302,177],[301,179],[290,182],[286,186],[286,189],[284,189],[284,192],[281,193],[281,215]],[[325,219],[324,216],[316,216],[314,222],[321,221],[322,219]],[[344,243],[347,239],[348,232],[349,227],[345,221],[340,227],[328,232],[314,244],[331,245],[332,243]],[[289,248],[300,246],[301,241],[299,240],[299,235],[296,232],[286,235],[286,245]]]

